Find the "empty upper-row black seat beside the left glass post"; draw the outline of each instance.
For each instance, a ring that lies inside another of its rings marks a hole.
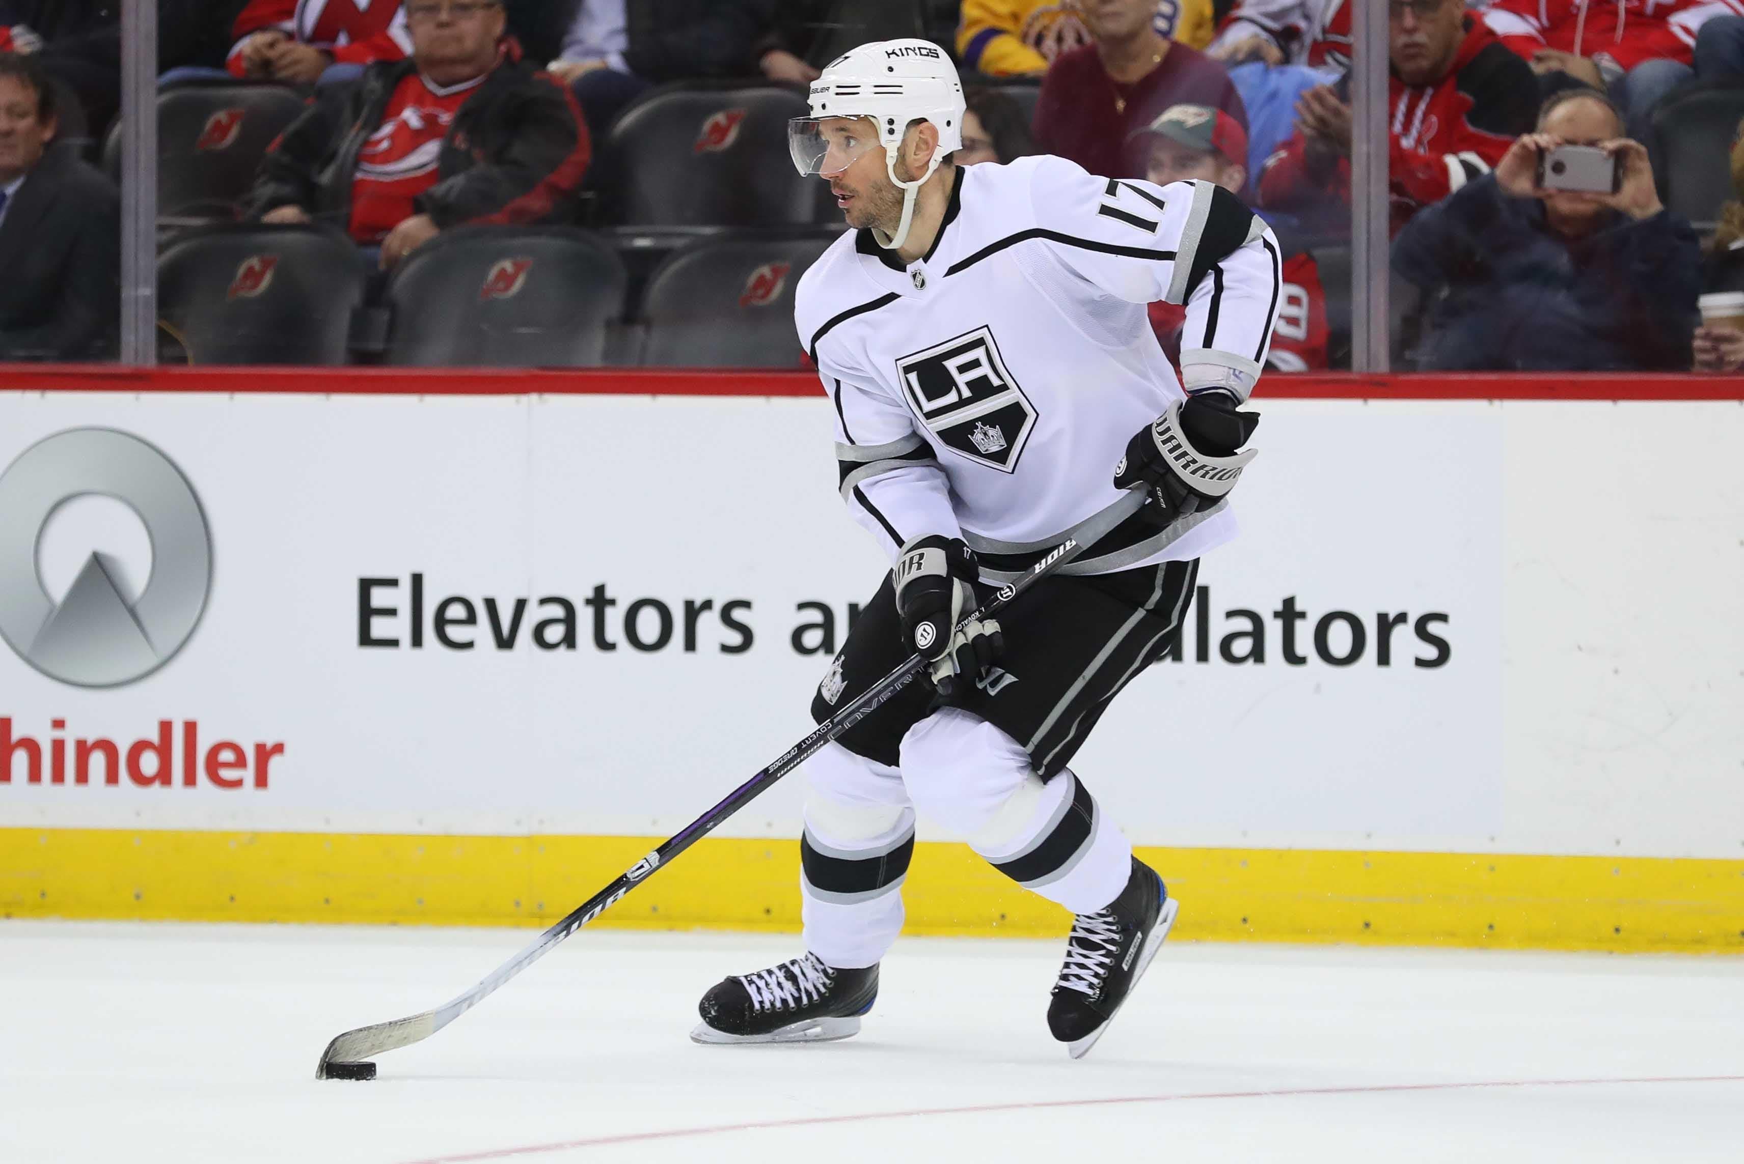
[[[176,85],[157,94],[159,218],[234,220],[267,146],[303,112],[283,85]],[[120,120],[103,145],[120,179]]]

